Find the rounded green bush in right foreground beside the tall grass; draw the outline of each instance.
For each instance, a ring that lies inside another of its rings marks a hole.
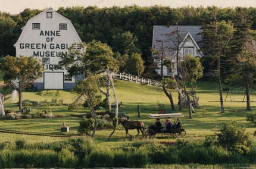
[[[246,152],[250,142],[245,134],[245,129],[233,121],[230,124],[223,124],[220,133],[217,134],[218,143],[230,151]]]

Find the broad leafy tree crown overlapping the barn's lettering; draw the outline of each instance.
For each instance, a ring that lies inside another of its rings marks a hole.
[[[90,43],[73,44],[68,49],[68,54],[61,57],[60,64],[67,67],[71,76],[78,74],[88,76],[90,73],[103,73],[107,68],[116,71],[118,64],[113,55],[107,43],[93,40]]]

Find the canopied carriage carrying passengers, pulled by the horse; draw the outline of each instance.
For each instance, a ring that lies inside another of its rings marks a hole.
[[[182,113],[171,113],[171,114],[149,114],[150,118],[154,119],[165,119],[164,121],[170,118],[180,118],[184,117]],[[173,137],[185,137],[186,130],[182,128],[182,123],[178,122],[180,125],[171,125],[170,127],[164,125],[155,125],[152,124],[148,128],[145,129],[145,136],[146,137],[155,137],[155,135],[160,134],[163,135],[171,135]]]

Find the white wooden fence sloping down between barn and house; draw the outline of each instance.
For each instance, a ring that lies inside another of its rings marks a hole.
[[[142,83],[145,85],[161,86],[162,84],[157,80],[145,79],[143,77],[134,76],[132,74],[120,73],[114,74],[115,79],[126,80],[129,82]]]

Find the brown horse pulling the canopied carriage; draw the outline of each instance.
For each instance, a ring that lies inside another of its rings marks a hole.
[[[142,133],[142,137],[144,136],[144,123],[141,121],[130,121],[130,120],[126,120],[124,118],[119,118],[118,123],[122,124],[122,126],[124,127],[124,129],[126,130],[126,136],[129,135],[130,137],[132,137],[129,133],[128,130],[133,130],[133,129],[137,129],[138,134],[136,136],[139,135],[139,131],[141,131]]]

